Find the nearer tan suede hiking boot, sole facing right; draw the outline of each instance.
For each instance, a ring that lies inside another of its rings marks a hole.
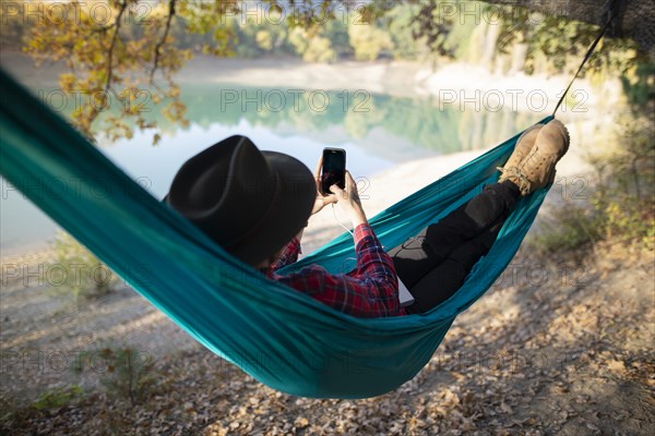
[[[555,181],[555,165],[569,149],[569,132],[564,124],[552,120],[539,130],[535,145],[519,164],[519,173],[508,179],[522,195],[527,195]]]

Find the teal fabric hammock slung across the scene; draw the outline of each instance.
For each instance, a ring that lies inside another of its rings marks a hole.
[[[297,396],[372,397],[412,379],[510,263],[547,192],[521,199],[488,255],[438,307],[356,318],[230,257],[1,71],[0,83],[0,173],[195,340]],[[517,137],[372,218],[382,244],[402,243],[496,181]],[[289,269],[317,263],[336,272],[352,256],[344,233]]]

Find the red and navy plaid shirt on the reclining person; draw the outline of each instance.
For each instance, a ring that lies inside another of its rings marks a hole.
[[[265,274],[344,313],[359,317],[405,315],[398,301],[398,281],[393,261],[368,225],[355,229],[357,267],[347,274],[330,274],[310,265],[286,276],[275,271],[298,259],[300,241],[294,238],[279,259]]]

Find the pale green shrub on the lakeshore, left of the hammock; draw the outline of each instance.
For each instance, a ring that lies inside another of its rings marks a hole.
[[[76,300],[107,294],[118,277],[70,234],[59,232],[55,244],[56,268],[50,286],[59,292],[72,293]]]

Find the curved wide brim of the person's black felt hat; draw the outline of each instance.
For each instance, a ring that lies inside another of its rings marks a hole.
[[[307,225],[317,197],[311,171],[298,159],[261,152],[277,180],[277,199],[265,219],[238,244],[226,247],[241,261],[258,265],[288,243]]]

